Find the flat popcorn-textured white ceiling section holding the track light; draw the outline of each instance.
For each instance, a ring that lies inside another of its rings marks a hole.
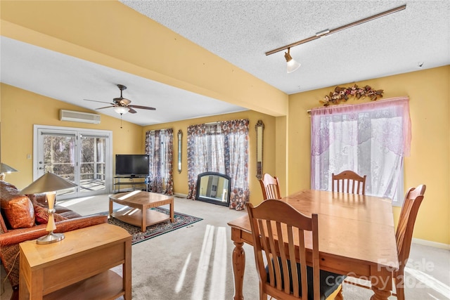
[[[195,44],[297,93],[450,63],[450,1],[122,1]],[[399,11],[284,51],[267,51],[406,4]]]

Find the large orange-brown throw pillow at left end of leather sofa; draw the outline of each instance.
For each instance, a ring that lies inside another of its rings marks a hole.
[[[25,195],[15,195],[9,200],[1,200],[9,225],[13,229],[30,228],[34,226],[34,208],[30,199]]]

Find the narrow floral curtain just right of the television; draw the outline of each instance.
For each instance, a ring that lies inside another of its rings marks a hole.
[[[146,132],[146,154],[150,156],[150,192],[174,194],[172,178],[174,130]]]

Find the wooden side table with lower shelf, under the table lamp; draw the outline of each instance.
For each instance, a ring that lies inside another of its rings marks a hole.
[[[131,235],[103,223],[20,243],[19,299],[131,299]],[[122,277],[110,268],[122,265]]]

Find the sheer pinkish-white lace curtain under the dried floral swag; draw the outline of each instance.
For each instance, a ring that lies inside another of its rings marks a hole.
[[[352,170],[367,176],[366,195],[392,199],[410,144],[409,98],[311,110],[311,188]]]

